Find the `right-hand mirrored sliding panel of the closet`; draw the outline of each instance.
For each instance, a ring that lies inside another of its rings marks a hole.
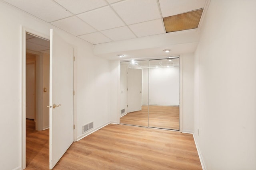
[[[148,126],[179,130],[179,58],[149,61]]]

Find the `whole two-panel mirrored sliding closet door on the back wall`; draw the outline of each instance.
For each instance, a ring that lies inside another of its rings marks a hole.
[[[120,124],[179,130],[179,58],[120,63]]]

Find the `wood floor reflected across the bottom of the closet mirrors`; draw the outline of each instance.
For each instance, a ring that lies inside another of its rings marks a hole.
[[[141,111],[127,113],[120,118],[121,124],[163,129],[180,129],[179,107],[176,106],[142,106]]]

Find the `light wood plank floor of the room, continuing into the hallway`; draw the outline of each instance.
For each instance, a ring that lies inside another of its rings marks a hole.
[[[33,138],[38,142],[48,140],[40,133],[34,133]],[[41,159],[48,158],[48,145],[42,142],[40,146],[35,149],[38,153],[34,153],[28,169],[48,169],[49,163]],[[202,167],[191,134],[110,124],[73,143],[54,170],[202,170]]]

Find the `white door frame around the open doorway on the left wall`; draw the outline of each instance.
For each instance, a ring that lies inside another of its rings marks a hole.
[[[20,137],[20,141],[21,141],[21,167],[22,169],[26,168],[26,33],[31,33],[35,36],[41,37],[43,39],[47,39],[50,40],[50,29],[49,29],[49,33],[48,35],[44,34],[44,33],[40,33],[38,31],[35,31],[33,29],[27,28],[22,26],[21,27],[21,78],[22,78],[22,83],[21,83],[21,103],[20,103],[20,109],[22,111],[21,114],[21,137]],[[77,47],[72,45],[72,47],[74,48],[74,56],[77,56]],[[74,91],[76,91],[76,62],[74,62]],[[74,125],[76,125],[76,95],[74,95],[74,100],[73,100],[73,104],[74,104]],[[76,129],[74,129],[74,141],[77,141],[77,137],[76,137]]]

